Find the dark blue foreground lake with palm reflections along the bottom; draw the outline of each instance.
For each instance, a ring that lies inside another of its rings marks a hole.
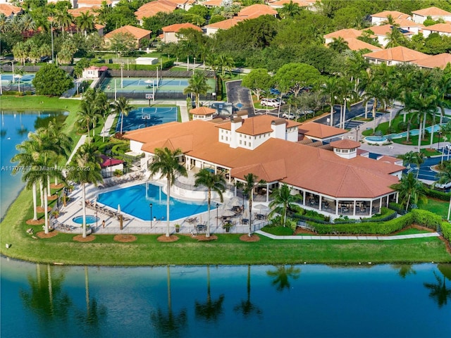
[[[450,272],[435,264],[85,268],[1,258],[1,337],[451,337]]]

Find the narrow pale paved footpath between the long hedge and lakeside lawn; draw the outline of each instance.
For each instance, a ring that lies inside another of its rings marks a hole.
[[[427,232],[424,234],[399,234],[395,236],[276,236],[274,234],[268,234],[268,232],[264,232],[258,230],[255,232],[256,234],[261,234],[262,236],[271,238],[271,239],[294,239],[294,240],[302,240],[302,239],[321,239],[321,240],[357,240],[357,241],[394,241],[395,239],[412,239],[412,238],[425,238],[425,237],[439,237],[440,234],[437,232]]]

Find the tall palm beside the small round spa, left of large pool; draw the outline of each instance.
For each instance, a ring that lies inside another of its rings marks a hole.
[[[100,164],[100,153],[91,142],[82,144],[73,156],[68,172],[68,179],[82,184],[82,211],[83,225],[82,237],[86,237],[86,184],[92,183],[97,186],[102,181]]]

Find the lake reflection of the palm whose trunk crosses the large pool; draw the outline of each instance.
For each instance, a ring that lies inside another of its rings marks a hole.
[[[171,299],[171,268],[167,268],[168,280],[168,312],[165,313],[160,307],[151,313],[150,318],[152,325],[159,337],[179,337],[180,332],[187,324],[187,313],[185,308],[178,312],[173,312]]]

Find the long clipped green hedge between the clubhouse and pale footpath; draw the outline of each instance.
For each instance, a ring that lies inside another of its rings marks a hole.
[[[314,222],[309,222],[311,227],[314,227],[318,234],[391,234],[395,231],[402,230],[407,225],[416,223],[433,230],[437,230],[438,226],[442,224],[442,218],[435,213],[425,210],[414,209],[399,218],[394,218],[387,222],[374,223],[347,223],[324,225]]]

